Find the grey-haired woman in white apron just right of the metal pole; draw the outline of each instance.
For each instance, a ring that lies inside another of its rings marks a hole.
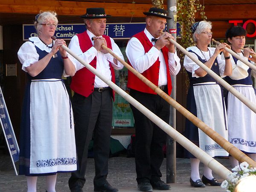
[[[224,50],[224,47],[228,47],[228,45],[220,44],[216,48],[208,47],[212,38],[211,23],[207,21],[197,22],[191,29],[196,46],[188,47],[187,50],[191,52],[193,57],[200,60],[221,77],[231,75],[232,65],[229,59],[229,53]],[[225,60],[221,59],[221,55],[219,54],[221,51],[224,52]],[[187,95],[187,109],[227,139],[226,109],[221,87],[215,79],[209,76],[206,71],[187,56],[184,58],[184,67],[190,80],[190,88]],[[227,151],[187,119],[184,135],[211,157],[228,156]],[[205,187],[205,184],[212,186],[221,185],[212,176],[212,170],[206,165],[204,166],[204,175],[201,180],[199,175],[200,160],[188,151],[185,152],[185,157],[191,160],[191,186]]]

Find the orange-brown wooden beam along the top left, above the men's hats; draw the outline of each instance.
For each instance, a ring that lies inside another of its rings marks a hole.
[[[37,14],[40,10],[51,10],[58,15],[83,15],[88,7],[104,7],[108,15],[116,17],[145,17],[152,4],[97,3],[59,0],[1,0],[0,12]]]

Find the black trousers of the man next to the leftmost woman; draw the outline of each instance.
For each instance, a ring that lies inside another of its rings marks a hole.
[[[95,161],[94,186],[106,183],[112,125],[111,89],[103,92],[94,91],[84,97],[77,93],[72,98],[75,119],[76,151],[78,170],[71,173],[70,189],[82,188],[85,183],[88,146],[92,135]]]

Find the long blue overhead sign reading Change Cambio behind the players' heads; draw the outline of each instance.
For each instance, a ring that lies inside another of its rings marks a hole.
[[[138,32],[145,29],[145,23],[107,23],[105,35],[113,39],[129,39]],[[166,28],[167,29],[167,28]],[[55,36],[64,40],[70,40],[74,35],[86,30],[83,23],[80,24],[58,24]],[[23,24],[23,41],[37,36],[34,25]],[[177,38],[181,37],[181,26],[177,22]]]

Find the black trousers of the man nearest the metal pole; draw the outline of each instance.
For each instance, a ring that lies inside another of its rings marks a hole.
[[[167,88],[164,90],[167,93]],[[138,102],[169,123],[170,105],[158,95],[131,90],[130,95]],[[158,181],[162,174],[163,144],[166,133],[131,105],[136,128],[135,163],[137,183]]]

